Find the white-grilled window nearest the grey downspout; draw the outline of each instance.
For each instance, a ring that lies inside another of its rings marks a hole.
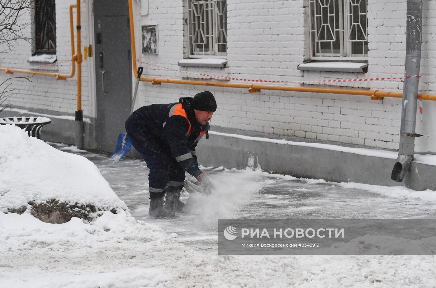
[[[311,59],[365,60],[367,0],[309,0]]]

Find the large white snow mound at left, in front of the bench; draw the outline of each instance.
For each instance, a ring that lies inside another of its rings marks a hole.
[[[127,209],[85,157],[58,151],[14,125],[1,125],[0,139],[1,212],[53,199],[96,210]]]

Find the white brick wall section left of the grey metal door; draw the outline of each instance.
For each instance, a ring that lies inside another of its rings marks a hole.
[[[58,62],[70,60],[71,57],[71,36],[70,36],[70,17],[69,6],[75,4],[75,1],[56,1],[56,56]],[[89,45],[88,31],[88,1],[82,0],[82,54],[83,46]],[[74,28],[76,27],[76,10],[74,12]],[[33,11],[24,14],[20,17],[22,23],[34,22]],[[75,29],[74,29],[75,30]],[[24,34],[29,37],[34,37],[32,34],[34,29],[32,25],[27,26]],[[74,32],[76,34],[76,30]],[[75,39],[76,41],[76,39]],[[77,45],[75,44],[75,49]],[[0,47],[0,50],[7,50],[5,45]],[[15,46],[14,51],[0,54],[0,66],[13,67],[24,70],[32,70],[31,67],[41,64],[31,64],[27,60],[33,53],[33,47],[30,43],[19,41]],[[90,98],[89,93],[89,61],[94,58],[88,58],[82,63],[82,110],[85,116],[95,116],[94,106],[91,102],[95,102]],[[59,64],[55,66],[44,67],[43,69],[34,69],[35,71],[53,72],[61,74],[70,74],[72,64]],[[76,69],[77,71],[77,69]],[[13,77],[23,77],[26,74],[15,73]],[[0,81],[3,82],[8,77],[3,71],[0,73]],[[8,100],[9,103],[14,103],[17,107],[26,107],[32,109],[44,109],[56,111],[65,114],[74,114],[77,110],[77,78],[69,78],[67,80],[56,80],[55,77],[34,76],[31,82],[23,79],[10,80],[11,87],[17,88],[18,92]]]

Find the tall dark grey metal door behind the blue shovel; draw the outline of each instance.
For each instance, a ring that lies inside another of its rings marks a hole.
[[[126,0],[94,0],[97,149],[112,152],[130,114],[132,59]]]

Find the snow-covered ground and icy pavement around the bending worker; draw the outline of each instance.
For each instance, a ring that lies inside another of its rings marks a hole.
[[[435,218],[432,191],[204,168],[214,194],[194,214],[154,220],[145,163],[51,145],[91,160],[131,214],[56,225],[0,213],[0,287],[434,287],[433,256],[218,256],[216,248],[218,218]]]

